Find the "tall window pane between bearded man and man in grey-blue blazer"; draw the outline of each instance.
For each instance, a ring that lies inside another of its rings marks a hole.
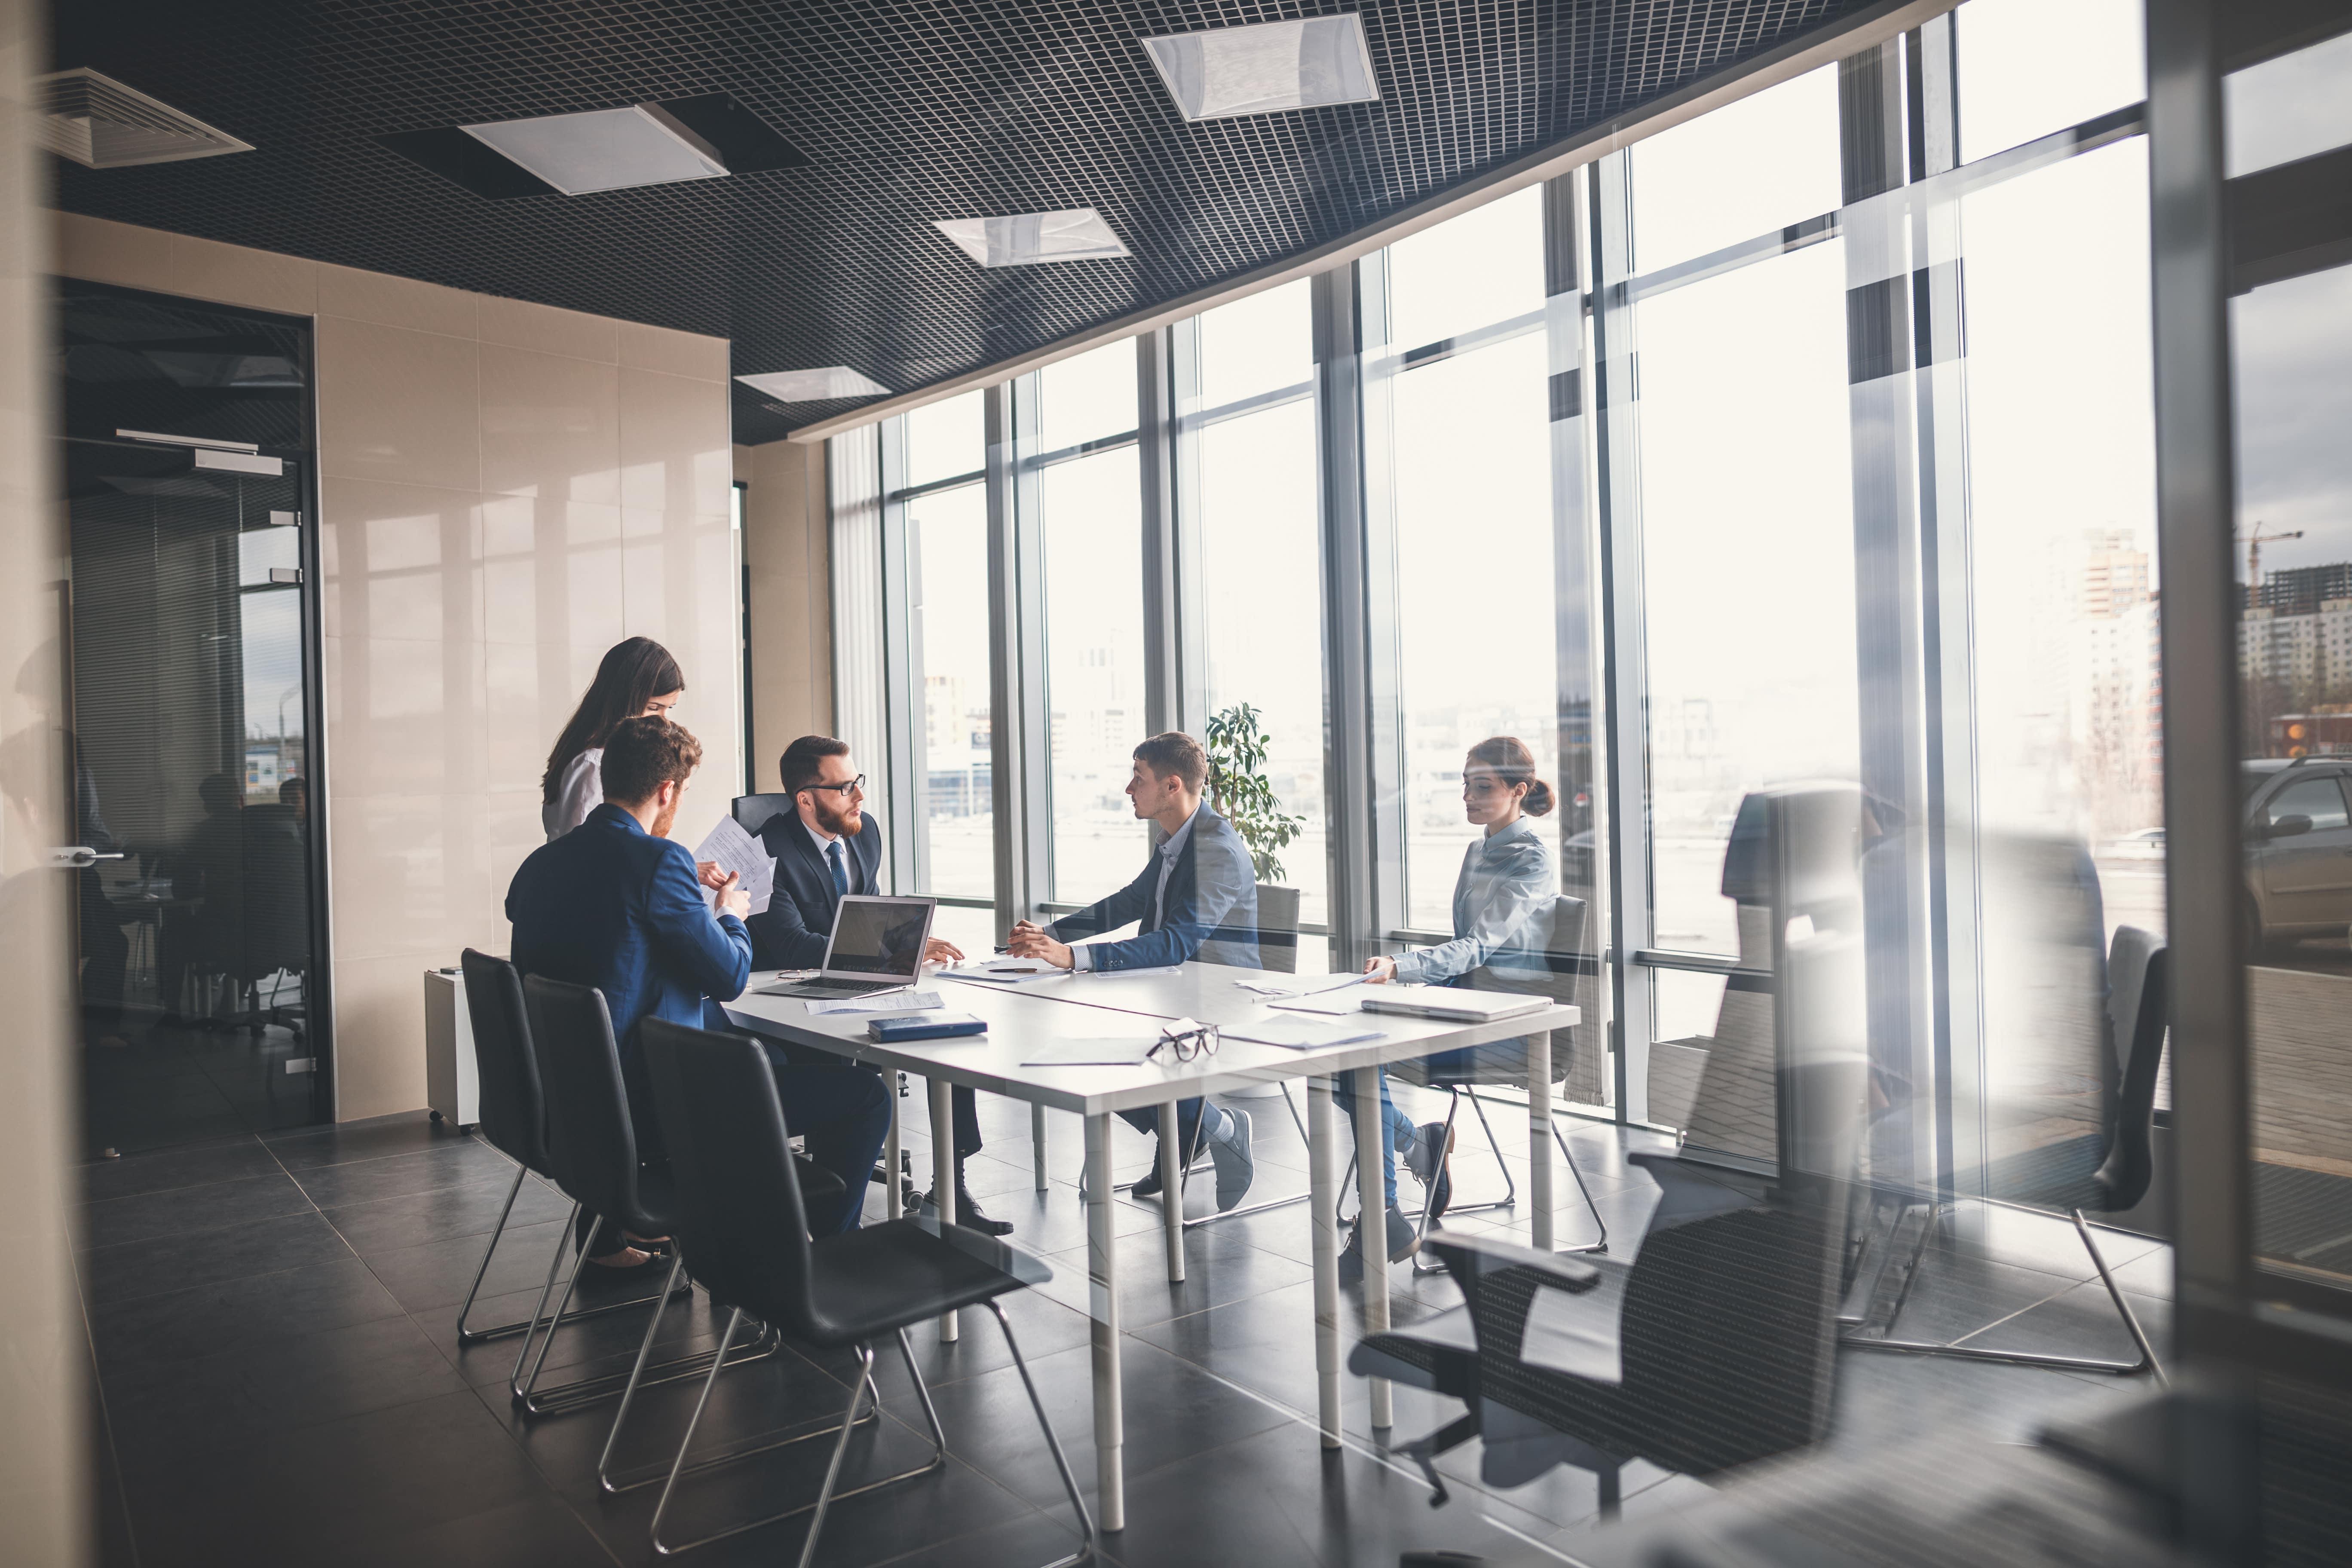
[[[1131,383],[1129,383],[1131,386]],[[1136,449],[1037,475],[1054,769],[1054,898],[1134,882],[1150,839],[1127,802],[1143,741],[1143,494]]]

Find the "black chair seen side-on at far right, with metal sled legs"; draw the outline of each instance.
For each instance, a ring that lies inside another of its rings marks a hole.
[[[1990,1173],[1987,1185],[1994,1197],[2025,1201],[2046,1208],[2065,1208],[2074,1220],[2074,1234],[2091,1253],[2098,1281],[2107,1286],[2114,1314],[2124,1319],[2124,1331],[2140,1356],[2136,1361],[2105,1361],[2098,1356],[2058,1356],[2023,1349],[1990,1349],[1976,1345],[1936,1345],[1922,1340],[1870,1340],[1853,1335],[1846,1345],[1858,1349],[1889,1349],[1915,1356],[1959,1356],[1969,1361],[2016,1361],[2025,1366],[2056,1366],[2079,1373],[2154,1373],[2164,1382],[2164,1366],[2157,1361],[2147,1331],[2124,1300],[2122,1286],[2107,1269],[2105,1253],[2084,1211],[2124,1213],[2147,1197],[2154,1180],[2154,1121],[2157,1121],[2157,1072],[2164,1063],[2164,1030],[2169,1023],[2169,973],[2164,943],[2138,926],[2117,926],[2107,947],[2107,1046],[2114,1053],[2114,1079],[2103,1095],[2103,1121],[2098,1138],[2072,1138],[2044,1150],[2002,1161]]]

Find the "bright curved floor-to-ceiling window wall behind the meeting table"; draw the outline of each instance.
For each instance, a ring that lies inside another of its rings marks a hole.
[[[2042,24],[2100,68],[2020,66]],[[1802,1027],[1867,1063],[1882,1225],[2067,1208],[2124,1091],[2110,950],[2166,938],[2140,73],[2131,5],[1969,0],[993,388],[976,468],[894,482],[908,679],[1014,708],[922,708],[964,762],[915,771],[920,886],[997,929],[1120,886],[1131,745],[1247,719],[1261,882],[1301,969],[1355,969],[1456,933],[1508,736],[1569,1103],[1771,1166]],[[2274,658],[2319,668],[2324,604]]]

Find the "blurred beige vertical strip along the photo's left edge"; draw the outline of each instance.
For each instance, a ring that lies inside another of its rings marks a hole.
[[[42,7],[0,0],[0,1190],[14,1232],[0,1269],[0,1561],[89,1561],[82,1422],[89,1345],[73,1300],[71,1171],[73,882],[47,851],[71,844],[64,668],[66,538],[56,510],[49,376],[52,228],[47,153],[26,132],[28,73],[47,71]],[[78,1185],[75,1185],[78,1187]]]

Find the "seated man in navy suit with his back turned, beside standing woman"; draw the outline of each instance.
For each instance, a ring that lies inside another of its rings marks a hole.
[[[506,893],[515,969],[604,992],[637,1147],[649,1159],[659,1157],[661,1133],[637,1025],[668,1018],[699,1027],[706,997],[731,1001],[750,978],[743,891],[729,877],[713,914],[694,856],[668,837],[701,759],[701,743],[668,719],[623,722],[604,743],[604,804],[532,851]],[[776,1091],[790,1131],[807,1135],[809,1159],[849,1190],[847,1201],[811,1199],[809,1229],[818,1237],[854,1229],[889,1128],[880,1079],[858,1067],[776,1063]],[[621,1248],[595,1262],[644,1262],[633,1253]]]

